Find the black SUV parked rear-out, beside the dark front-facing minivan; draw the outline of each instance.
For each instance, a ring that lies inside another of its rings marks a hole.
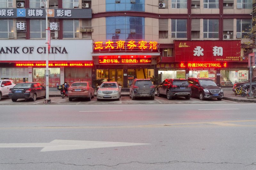
[[[191,88],[188,81],[183,78],[167,78],[156,87],[157,96],[165,95],[168,100],[172,97],[185,97],[187,100],[191,96]]]

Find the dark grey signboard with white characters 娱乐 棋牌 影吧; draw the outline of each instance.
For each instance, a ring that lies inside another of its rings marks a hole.
[[[47,9],[48,17],[54,18],[92,18],[92,9]],[[45,18],[44,9],[1,8],[0,18]]]

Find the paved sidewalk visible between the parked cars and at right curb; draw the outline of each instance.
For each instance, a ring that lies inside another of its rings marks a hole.
[[[249,96],[241,97],[241,95],[236,95],[232,91],[232,88],[223,88],[224,92],[224,97],[223,99],[225,100],[230,100],[230,101],[239,101],[239,102],[254,102],[256,103],[256,98],[249,99]],[[97,93],[94,93],[94,96],[96,96]],[[129,92],[122,92],[122,96],[129,96]],[[156,95],[156,93],[155,93]],[[55,90],[55,89],[50,89],[49,90],[49,96],[50,97],[60,97],[60,91]]]

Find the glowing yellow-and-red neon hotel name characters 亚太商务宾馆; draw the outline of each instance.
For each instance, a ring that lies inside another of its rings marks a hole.
[[[94,52],[110,51],[157,51],[159,44],[156,41],[127,40],[127,41],[95,41],[93,43]]]

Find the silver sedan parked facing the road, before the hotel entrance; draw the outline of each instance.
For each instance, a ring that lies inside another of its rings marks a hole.
[[[117,82],[103,82],[98,88],[97,100],[121,98],[121,86]]]

